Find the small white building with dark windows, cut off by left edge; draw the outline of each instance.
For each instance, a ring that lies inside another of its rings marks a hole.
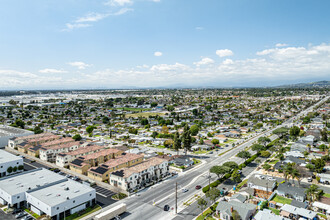
[[[0,177],[7,176],[8,174],[14,174],[22,172],[23,158],[15,156],[7,151],[0,150]],[[12,172],[8,172],[8,168],[12,168]]]

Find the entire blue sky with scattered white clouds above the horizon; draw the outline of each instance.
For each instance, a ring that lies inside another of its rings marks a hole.
[[[0,88],[330,79],[330,2],[3,0]]]

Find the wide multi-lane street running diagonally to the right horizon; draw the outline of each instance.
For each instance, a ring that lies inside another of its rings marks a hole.
[[[315,105],[303,110],[296,116],[288,119],[282,125],[272,128],[270,130],[261,133],[243,144],[240,144],[233,148],[231,151],[221,155],[221,156],[212,156],[205,158],[206,163],[199,166],[198,168],[189,170],[185,173],[179,174],[176,177],[168,179],[164,182],[159,183],[153,187],[145,189],[144,191],[138,193],[137,195],[133,195],[123,202],[127,204],[127,213],[123,216],[125,219],[173,219],[175,217],[179,217],[176,219],[192,219],[196,213],[196,202],[195,204],[191,204],[191,208],[183,208],[183,203],[191,198],[193,195],[198,193],[198,190],[195,189],[196,185],[205,186],[209,183],[209,169],[215,165],[221,165],[226,161],[235,161],[237,163],[241,163],[242,159],[236,157],[235,155],[245,148],[250,147],[254,142],[258,140],[261,136],[270,136],[272,131],[283,126],[288,126],[296,118],[299,118],[308,112],[312,111],[313,108],[321,103],[323,103],[327,98],[321,100]],[[272,139],[275,137],[272,136]],[[256,166],[248,167],[243,170],[243,175],[247,175],[251,173]],[[211,174],[211,181],[216,179],[216,176]],[[174,214],[175,207],[175,185],[178,184],[178,215]],[[188,189],[187,192],[182,192],[182,188]],[[166,212],[163,210],[164,205],[169,205],[171,210]],[[110,207],[109,207],[110,208]],[[198,209],[197,209],[198,210]]]

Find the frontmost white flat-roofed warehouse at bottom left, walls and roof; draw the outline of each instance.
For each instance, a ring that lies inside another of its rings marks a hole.
[[[26,192],[27,207],[53,220],[64,219],[93,206],[95,198],[95,189],[69,179]]]

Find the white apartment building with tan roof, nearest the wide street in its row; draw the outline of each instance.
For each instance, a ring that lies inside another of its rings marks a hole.
[[[152,181],[158,181],[168,174],[168,161],[154,157],[138,165],[111,173],[109,183],[127,192],[132,192]]]

